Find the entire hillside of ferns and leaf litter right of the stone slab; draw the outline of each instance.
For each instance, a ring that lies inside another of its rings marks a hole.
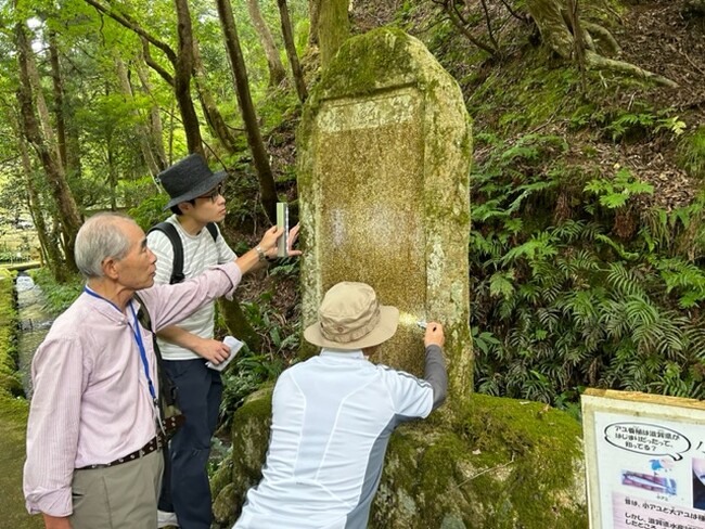
[[[620,46],[615,59],[679,85],[663,88],[562,61],[520,4],[483,2],[501,50],[490,56],[440,3],[361,1],[354,14],[359,30],[398,24],[421,38],[474,120],[476,389],[575,414],[588,385],[702,398],[704,13],[685,0],[580,2]],[[489,42],[479,8],[466,20]]]

